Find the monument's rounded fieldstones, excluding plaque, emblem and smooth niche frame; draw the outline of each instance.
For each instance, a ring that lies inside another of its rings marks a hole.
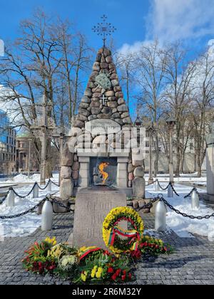
[[[105,90],[106,105],[103,106],[101,101],[102,88],[96,83],[96,77],[105,73],[108,79],[111,80],[111,88]],[[132,121],[128,112],[128,107],[123,98],[123,92],[119,83],[116,65],[113,63],[111,51],[108,48],[101,48],[96,56],[96,61],[93,64],[93,72],[88,80],[88,85],[78,107],[78,115],[73,122],[73,127],[70,131],[70,139],[66,142],[63,148],[63,159],[61,167],[61,197],[68,198],[68,194],[72,193],[73,182],[78,180],[79,163],[76,151],[80,147],[96,148],[97,145],[111,144],[111,141],[106,140],[106,136],[91,136],[88,135],[85,129],[86,122],[98,119],[108,119],[118,122],[121,125],[121,134],[123,131],[131,130]],[[115,137],[112,140],[113,148],[117,147],[117,142],[123,140],[121,135],[118,134],[118,140]],[[136,142],[134,140],[133,142]],[[119,144],[121,148],[121,143]],[[133,187],[135,184],[145,185],[143,179],[143,159],[135,159],[134,155],[138,153],[138,150],[133,149],[129,163],[128,163],[128,187]],[[143,182],[142,182],[143,180]],[[144,196],[144,189],[140,188],[141,192],[137,193],[138,196]],[[139,188],[138,188],[139,190]],[[71,196],[71,194],[70,194]]]

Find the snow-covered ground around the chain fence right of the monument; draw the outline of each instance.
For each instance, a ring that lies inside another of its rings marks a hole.
[[[161,184],[161,187],[166,187],[167,184]],[[180,194],[176,196],[174,194],[173,198],[167,197],[167,191],[155,191],[155,186],[151,185],[146,188],[147,197],[156,197],[158,194],[163,194],[163,197],[168,201],[169,204],[178,209],[179,211],[193,216],[205,216],[213,214],[213,209],[205,206],[203,201],[200,201],[200,209],[198,211],[193,211],[191,208],[191,199],[190,197],[184,198],[191,191],[191,187],[185,187],[179,184],[175,184],[175,191]],[[204,192],[203,190],[198,189],[198,192]],[[198,234],[200,236],[211,237],[214,231],[214,217],[210,219],[189,219],[181,215],[176,214],[174,211],[169,208],[166,217],[166,223],[169,229],[175,231],[176,234],[180,237],[193,237],[192,234]]]

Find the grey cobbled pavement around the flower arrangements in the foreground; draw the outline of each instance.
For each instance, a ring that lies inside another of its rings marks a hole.
[[[146,229],[154,228],[154,218],[142,215]],[[73,229],[73,214],[54,215],[54,229],[44,232],[37,229],[27,237],[6,238],[0,242],[0,285],[67,285],[69,281],[51,276],[36,276],[26,273],[21,259],[24,251],[35,241],[46,236],[56,236],[57,241],[66,241]],[[175,248],[170,256],[148,258],[136,263],[137,285],[213,285],[214,284],[214,246],[208,238],[180,238],[173,231],[160,233],[166,243]]]

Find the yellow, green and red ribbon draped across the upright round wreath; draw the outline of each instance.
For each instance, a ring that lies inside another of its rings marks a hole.
[[[131,241],[130,241],[130,243],[132,241],[136,241],[136,239],[137,239],[137,241],[135,243],[133,243],[132,250],[133,251],[137,251],[138,250],[138,243],[139,243],[139,241],[141,239],[141,236],[140,236],[140,234],[139,234],[138,231],[136,231],[136,230],[128,231],[128,230],[125,230],[125,229],[121,229],[121,227],[114,226],[111,229],[111,232],[110,232],[110,235],[109,235],[108,245],[113,246],[113,243],[114,243],[115,238],[116,238],[116,234],[124,236],[126,238],[132,238]]]

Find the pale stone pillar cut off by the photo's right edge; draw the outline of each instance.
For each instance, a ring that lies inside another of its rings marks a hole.
[[[214,196],[214,145],[207,148],[207,192]]]

